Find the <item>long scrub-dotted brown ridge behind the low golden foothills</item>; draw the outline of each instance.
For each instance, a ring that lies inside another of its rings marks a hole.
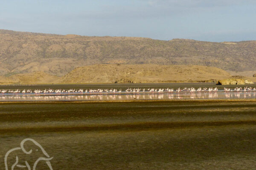
[[[0,30],[0,75],[41,71],[64,76],[93,64],[204,65],[256,71],[256,41],[202,42],[87,37]]]

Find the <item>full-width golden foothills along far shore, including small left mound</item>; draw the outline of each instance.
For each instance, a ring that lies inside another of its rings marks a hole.
[[[60,84],[60,83],[166,83],[218,82],[220,79],[248,79],[231,75],[220,68],[201,65],[87,65],[70,71],[62,77],[44,72],[0,76],[0,84]]]

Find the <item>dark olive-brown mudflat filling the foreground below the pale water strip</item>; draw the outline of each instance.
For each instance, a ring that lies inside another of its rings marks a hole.
[[[8,150],[32,138],[54,170],[252,170],[255,134],[256,102],[1,103],[0,167]],[[17,153],[20,164],[34,154]]]

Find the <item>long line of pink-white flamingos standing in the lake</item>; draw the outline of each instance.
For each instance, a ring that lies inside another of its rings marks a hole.
[[[174,90],[173,88],[148,88],[148,89],[140,89],[140,88],[127,88],[125,91],[122,91],[122,89],[36,89],[36,90],[0,90],[1,94],[119,94],[119,93],[142,93],[142,92],[150,92],[150,93],[171,93],[171,92],[217,92],[218,88],[177,88]],[[251,87],[244,87],[244,88],[224,88],[225,92],[241,92],[241,91],[255,91],[256,88],[251,88]]]

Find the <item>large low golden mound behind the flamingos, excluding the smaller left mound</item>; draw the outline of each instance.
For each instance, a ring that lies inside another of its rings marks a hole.
[[[212,82],[225,79],[224,70],[201,65],[88,65],[76,68],[61,77],[61,83],[158,83],[158,82]]]

